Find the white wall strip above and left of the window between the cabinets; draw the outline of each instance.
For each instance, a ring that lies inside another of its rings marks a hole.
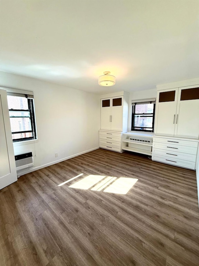
[[[156,89],[140,90],[131,92],[129,95],[129,109],[128,109],[128,131],[131,131],[131,118],[132,118],[132,101],[141,99],[150,99],[157,97]]]

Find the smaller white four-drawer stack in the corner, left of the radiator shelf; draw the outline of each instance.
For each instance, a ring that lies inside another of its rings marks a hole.
[[[99,147],[122,152],[122,133],[115,131],[99,131]]]

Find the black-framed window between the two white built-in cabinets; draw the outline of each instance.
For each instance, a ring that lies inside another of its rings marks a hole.
[[[155,101],[132,103],[131,130],[154,131]]]

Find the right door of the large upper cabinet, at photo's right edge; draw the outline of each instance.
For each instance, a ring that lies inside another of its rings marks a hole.
[[[199,85],[179,88],[175,136],[199,137]]]

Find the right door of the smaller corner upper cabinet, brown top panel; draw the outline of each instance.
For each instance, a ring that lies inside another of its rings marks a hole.
[[[123,96],[111,98],[111,130],[123,131]]]

